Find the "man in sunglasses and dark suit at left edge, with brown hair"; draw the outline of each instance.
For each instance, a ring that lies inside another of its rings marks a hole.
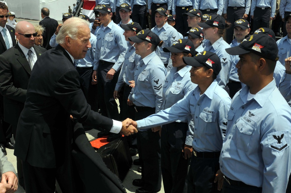
[[[0,54],[7,49],[15,46],[15,30],[14,28],[6,25],[8,19],[8,7],[5,3],[0,2]],[[7,155],[5,147],[14,149],[14,143],[10,141],[12,137],[12,126],[3,120],[3,96],[0,95],[0,119],[2,124],[0,125],[0,148],[4,155]]]

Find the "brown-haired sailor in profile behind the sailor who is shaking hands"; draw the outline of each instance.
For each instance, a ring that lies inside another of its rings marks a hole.
[[[230,46],[223,40],[225,28],[229,27],[229,23],[221,15],[210,15],[209,20],[198,24],[203,28],[203,34],[206,40],[209,40],[205,45],[206,51],[216,53],[221,60],[221,71],[217,76],[217,82],[228,92],[228,83],[230,70],[234,65],[235,57],[226,53],[225,49]]]

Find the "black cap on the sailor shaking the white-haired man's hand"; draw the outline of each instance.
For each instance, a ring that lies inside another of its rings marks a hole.
[[[210,51],[202,51],[194,57],[183,57],[183,62],[189,66],[206,66],[218,75],[221,70],[221,62],[216,53]]]

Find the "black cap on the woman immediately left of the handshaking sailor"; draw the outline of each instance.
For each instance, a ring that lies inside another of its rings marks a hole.
[[[195,51],[194,44],[188,39],[179,39],[171,47],[164,47],[163,51],[173,53],[186,52],[191,53],[192,56],[198,53]]]

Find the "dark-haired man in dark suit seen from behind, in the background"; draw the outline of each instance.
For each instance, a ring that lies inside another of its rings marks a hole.
[[[58,22],[55,19],[49,17],[49,9],[44,7],[40,11],[42,20],[39,22],[45,28],[45,31],[42,34],[43,38],[43,47],[45,49],[52,49],[49,45],[49,40],[54,35],[56,28],[58,27]]]

